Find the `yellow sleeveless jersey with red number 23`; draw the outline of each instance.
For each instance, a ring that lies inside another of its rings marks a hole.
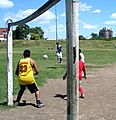
[[[21,85],[28,85],[35,82],[31,58],[24,58],[19,61],[18,81]]]

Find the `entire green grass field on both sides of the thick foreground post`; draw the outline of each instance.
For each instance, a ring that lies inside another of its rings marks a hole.
[[[63,46],[63,64],[58,64],[55,53],[55,41],[13,41],[13,94],[17,94],[19,85],[14,74],[17,62],[22,58],[25,49],[31,50],[31,57],[36,60],[39,75],[36,81],[43,86],[49,79],[62,77],[66,71],[66,42],[59,41]],[[80,41],[80,48],[85,55],[87,73],[95,68],[106,67],[116,61],[116,41]],[[48,59],[43,59],[47,54]],[[7,98],[6,81],[6,43],[0,43],[0,102]]]

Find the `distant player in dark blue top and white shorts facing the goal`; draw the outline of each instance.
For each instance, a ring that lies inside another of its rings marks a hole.
[[[58,63],[62,63],[62,45],[59,45],[59,43],[56,43],[56,55]]]

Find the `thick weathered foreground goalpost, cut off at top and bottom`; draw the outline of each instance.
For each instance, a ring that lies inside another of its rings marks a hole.
[[[79,120],[78,93],[78,0],[66,2],[67,33],[67,120]],[[74,63],[74,49],[76,61]]]

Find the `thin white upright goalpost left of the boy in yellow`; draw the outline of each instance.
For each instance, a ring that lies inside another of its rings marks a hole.
[[[7,22],[12,22],[8,20]],[[9,27],[7,31],[7,104],[13,105],[13,68],[12,68],[12,29]]]

